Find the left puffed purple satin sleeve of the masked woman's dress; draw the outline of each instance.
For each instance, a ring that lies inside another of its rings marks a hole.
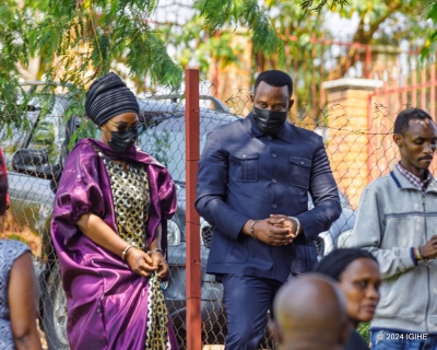
[[[64,244],[79,232],[75,222],[85,213],[102,217],[104,200],[99,184],[98,155],[87,144],[78,144],[69,154],[55,197],[54,235],[63,235]]]

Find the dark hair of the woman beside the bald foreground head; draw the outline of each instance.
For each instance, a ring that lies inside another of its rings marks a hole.
[[[319,272],[326,276],[332,277],[334,280],[340,280],[340,275],[346,269],[346,267],[354,260],[366,258],[371,259],[376,264],[376,258],[367,250],[357,248],[342,248],[336,249],[328,254],[321,259],[315,267],[315,272]]]

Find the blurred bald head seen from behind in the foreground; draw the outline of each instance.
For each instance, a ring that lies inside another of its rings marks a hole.
[[[332,279],[310,273],[285,283],[274,302],[273,337],[281,350],[341,350],[350,328],[346,303]]]

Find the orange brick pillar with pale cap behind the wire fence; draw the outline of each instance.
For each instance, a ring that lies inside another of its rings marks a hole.
[[[323,83],[328,92],[327,152],[339,189],[347,195],[353,208],[368,184],[369,128],[368,94],[380,82],[340,79]]]

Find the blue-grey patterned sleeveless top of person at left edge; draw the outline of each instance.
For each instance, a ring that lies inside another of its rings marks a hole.
[[[13,262],[24,253],[31,252],[19,241],[0,240],[0,349],[15,349],[9,314],[8,288]]]

